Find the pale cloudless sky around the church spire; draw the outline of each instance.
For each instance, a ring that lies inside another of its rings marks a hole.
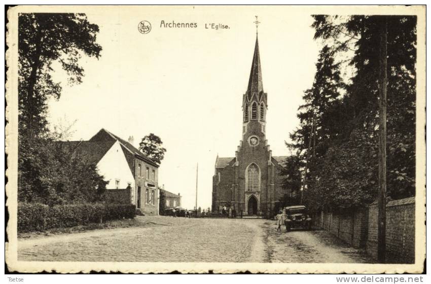
[[[105,128],[138,147],[149,133],[167,149],[159,168],[159,186],[181,193],[193,208],[199,164],[198,206],[211,206],[217,155],[234,157],[241,139],[242,95],[246,91],[256,41],[264,91],[268,93],[267,139],[274,156],[289,155],[284,141],[299,125],[297,110],[310,88],[319,45],[312,17],[303,7],[83,7],[100,32],[101,57],[83,56],[85,77],[61,82],[59,100],[50,99],[51,125],[74,123],[70,140],[87,140]],[[151,23],[149,33],[138,30]],[[196,28],[161,27],[197,23]],[[225,29],[205,28],[211,23]]]

